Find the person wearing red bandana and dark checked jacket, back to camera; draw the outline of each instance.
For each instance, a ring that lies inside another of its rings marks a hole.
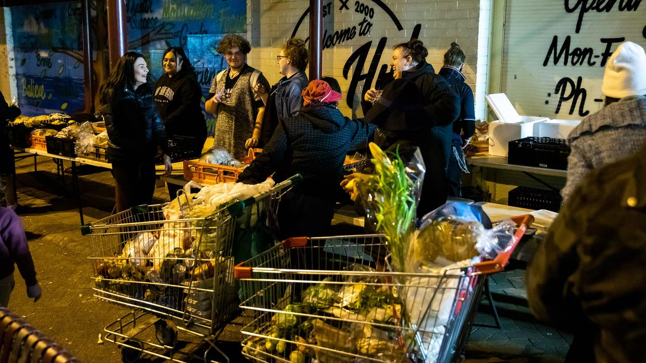
[[[238,177],[239,182],[255,184],[272,173],[276,183],[296,173],[303,176],[280,201],[281,239],[328,234],[346,153],[375,128],[339,111],[341,90],[332,77],[311,81],[302,95],[303,108],[278,121],[263,152]]]

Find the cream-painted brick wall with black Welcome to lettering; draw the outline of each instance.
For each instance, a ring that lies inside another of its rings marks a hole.
[[[489,1],[483,0],[483,2],[488,3]],[[345,8],[344,1],[323,1],[323,12],[326,14],[323,21],[324,35],[326,31],[328,36],[331,34],[333,37],[331,43],[333,44],[330,44],[327,36],[324,37],[322,74],[335,77],[341,84],[344,93],[348,92],[351,85],[357,85],[351,101],[354,111],[346,101],[342,101],[340,103],[342,112],[348,116],[362,116],[359,97],[365,81],[358,80],[357,77],[353,79],[353,72],[358,66],[358,61],[364,59],[359,74],[370,74],[370,64],[376,54],[377,66],[371,81],[371,86],[373,86],[382,65],[390,64],[392,47],[395,44],[408,41],[415,26],[419,26],[419,39],[428,48],[427,61],[433,64],[436,71],[441,68],[444,52],[450,44],[453,41],[460,44],[466,55],[464,75],[467,83],[472,86],[475,92],[476,75],[486,74],[486,44],[484,48],[480,47],[480,52],[485,52],[485,57],[483,54],[478,57],[481,1],[391,0],[384,1],[384,3],[385,8],[381,8],[372,1],[350,0],[347,1],[347,8]],[[366,6],[368,6],[368,10],[365,10]],[[282,77],[278,74],[276,64],[276,55],[280,52],[280,47],[295,30],[296,35],[302,39],[309,34],[309,17],[307,15],[298,25],[299,19],[308,7],[309,1],[307,0],[252,0],[247,3],[249,25],[247,36],[248,39],[251,39],[253,46],[248,62],[262,70],[272,84]],[[368,16],[359,14],[357,10],[368,12]],[[488,11],[488,8],[485,10]],[[389,12],[391,15],[388,14]],[[369,32],[366,32],[368,23],[364,20],[371,23]],[[397,22],[401,25],[401,30],[398,29]],[[353,30],[354,37],[351,37]],[[337,41],[334,33],[342,31],[347,32],[348,36]],[[488,31],[488,27],[486,31]],[[385,46],[379,52],[378,43],[382,38],[385,38]],[[366,44],[370,42],[371,44],[367,46]],[[353,56],[357,59],[346,64],[348,59]],[[485,67],[479,69],[478,61],[485,62]],[[344,77],[344,68],[348,68],[347,77]]]

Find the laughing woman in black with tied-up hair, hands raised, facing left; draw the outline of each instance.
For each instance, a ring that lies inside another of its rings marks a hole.
[[[410,141],[419,146],[426,164],[426,177],[422,187],[422,197],[417,208],[417,215],[424,215],[446,202],[448,195],[448,179],[446,168],[450,155],[452,123],[459,114],[460,104],[457,94],[443,77],[435,74],[433,66],[426,63],[428,50],[422,41],[412,39],[406,43],[397,44],[393,48],[390,63],[393,79],[412,81],[421,93],[421,104],[412,104],[416,97],[406,97],[402,103],[392,104],[390,99],[377,97],[377,90],[372,89],[364,95],[364,114],[366,120],[375,123],[384,119],[377,112],[368,112],[372,103],[379,103],[384,112],[391,112],[396,107],[403,110],[421,108],[423,117],[415,117],[416,121],[401,124],[377,123],[375,142],[388,148],[396,141]],[[393,82],[389,83],[392,84]],[[401,86],[401,84],[400,84]],[[384,86],[384,93],[389,85]],[[419,103],[419,101],[417,101]]]

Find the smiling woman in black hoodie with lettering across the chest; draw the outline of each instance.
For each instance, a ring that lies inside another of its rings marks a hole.
[[[206,122],[200,106],[202,88],[191,61],[179,46],[163,52],[164,74],[157,81],[155,104],[169,139],[176,136],[195,138],[194,153],[202,152],[206,140]]]

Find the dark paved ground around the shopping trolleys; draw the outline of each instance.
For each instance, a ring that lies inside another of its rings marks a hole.
[[[70,166],[68,162],[65,166]],[[16,289],[9,307],[30,324],[41,329],[78,357],[81,362],[120,362],[115,344],[99,344],[103,328],[130,309],[101,302],[92,296],[90,237],[80,233],[78,204],[72,193],[69,174],[57,175],[56,164],[48,157],[16,162],[20,215],[25,224],[36,264],[43,297],[34,303],[27,299],[25,283],[16,271]],[[83,166],[79,169],[85,222],[96,221],[112,213],[114,187],[110,172]],[[167,201],[165,188],[157,188],[158,201]],[[526,307],[524,271],[514,270],[492,277],[490,282],[501,317],[501,329],[492,327],[494,319],[486,299],[475,317],[474,329],[466,349],[466,362],[560,362],[565,357],[570,337],[538,324]],[[245,362],[240,354],[238,318],[216,339],[231,362]],[[189,345],[188,348],[193,347]],[[198,346],[197,351],[203,351]],[[215,360],[221,360],[213,355]],[[148,362],[161,360],[146,359]]]

